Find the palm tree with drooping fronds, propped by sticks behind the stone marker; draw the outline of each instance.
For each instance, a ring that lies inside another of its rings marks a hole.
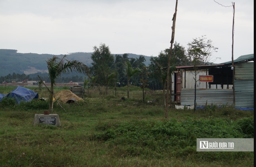
[[[49,78],[51,81],[51,89],[50,89],[50,103],[49,103],[49,111],[52,112],[53,109],[53,85],[56,85],[56,79],[60,76],[61,73],[68,74],[69,72],[75,71],[79,73],[87,73],[88,67],[79,62],[77,60],[68,61],[65,59],[66,55],[60,59],[57,56],[53,56],[52,58],[48,59],[47,67],[49,71]]]

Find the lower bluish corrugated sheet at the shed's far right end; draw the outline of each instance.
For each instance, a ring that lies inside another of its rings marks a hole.
[[[236,107],[254,107],[254,80],[235,80]]]

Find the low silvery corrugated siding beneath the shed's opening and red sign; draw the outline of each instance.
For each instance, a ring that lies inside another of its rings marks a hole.
[[[194,105],[195,89],[181,89],[181,105]],[[196,104],[232,105],[233,89],[197,89]]]

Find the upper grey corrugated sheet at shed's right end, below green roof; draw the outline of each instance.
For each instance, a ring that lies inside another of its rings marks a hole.
[[[254,79],[254,62],[241,62],[235,64],[236,80],[253,80]]]

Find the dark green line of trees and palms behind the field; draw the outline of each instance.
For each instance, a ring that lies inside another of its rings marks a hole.
[[[145,66],[145,57],[140,55],[138,58],[129,58],[128,54],[113,55],[109,46],[101,43],[99,47],[93,47],[94,52],[91,56],[92,66],[88,67],[86,74],[63,74],[56,78],[56,83],[85,82],[88,84],[97,84],[101,86],[122,87],[134,85],[142,88],[164,89],[166,86],[166,71],[164,67],[168,66],[168,56],[170,48],[162,50],[157,57],[150,57],[149,66]],[[211,40],[207,40],[204,36],[195,38],[188,43],[187,49],[175,42],[172,49],[171,64],[175,70],[175,66],[193,66],[205,65],[211,63],[212,53],[217,52],[218,48],[212,45]],[[196,64],[195,64],[196,63]],[[8,74],[1,76],[0,82],[8,83],[20,82],[25,79],[38,81],[38,74]],[[42,80],[50,82],[49,74],[39,73]],[[129,94],[129,92],[128,92]]]

